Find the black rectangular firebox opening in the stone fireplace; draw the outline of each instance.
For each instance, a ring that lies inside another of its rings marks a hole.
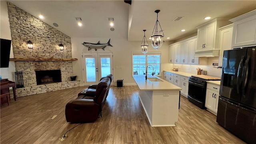
[[[36,84],[61,82],[60,70],[36,70]]]

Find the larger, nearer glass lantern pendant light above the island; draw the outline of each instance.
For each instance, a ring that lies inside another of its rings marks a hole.
[[[158,13],[159,12],[160,12],[160,10],[155,10],[155,13],[157,14],[156,24],[155,24],[153,32],[151,34],[152,47],[156,50],[158,50],[158,48],[160,48],[162,46],[162,44],[163,44],[162,38],[164,37],[164,32],[161,28],[160,22],[158,21]],[[158,29],[158,24],[159,24],[160,30]]]

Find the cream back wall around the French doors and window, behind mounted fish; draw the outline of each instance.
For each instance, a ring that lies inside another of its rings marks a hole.
[[[143,38],[143,35],[142,37]],[[71,38],[72,43],[72,58],[78,58],[77,61],[73,61],[73,73],[77,76],[76,80],[82,82],[82,53],[95,53],[95,50],[88,51],[88,48],[82,45],[83,42],[97,43],[108,42],[109,38]],[[150,41],[148,41],[150,43]],[[132,52],[141,52],[141,41],[128,42],[127,38],[111,38],[110,44],[113,47],[107,46],[105,51],[102,49],[96,52],[112,52],[114,56],[114,82],[124,78],[124,85],[135,84],[132,78]],[[164,42],[159,50],[155,50],[150,45],[149,52],[162,52],[161,63],[162,70],[171,68],[168,64],[169,59],[169,46],[167,42]],[[116,69],[116,66],[123,66],[123,69]],[[82,83],[80,83],[82,84]]]

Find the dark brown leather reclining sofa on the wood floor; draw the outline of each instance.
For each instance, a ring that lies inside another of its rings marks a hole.
[[[72,123],[92,122],[101,115],[110,88],[110,78],[102,78],[96,86],[94,96],[79,95],[66,104],[66,121]]]

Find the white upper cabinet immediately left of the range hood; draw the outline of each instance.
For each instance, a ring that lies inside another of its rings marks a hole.
[[[199,58],[195,57],[196,48],[197,48],[197,38],[189,40],[189,42],[188,42],[188,64],[199,64]]]

